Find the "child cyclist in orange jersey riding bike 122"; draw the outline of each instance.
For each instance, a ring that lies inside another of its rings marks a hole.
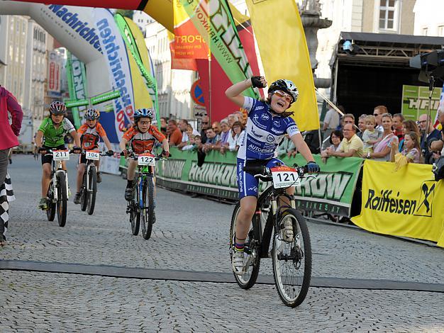
[[[128,143],[135,154],[143,154],[151,152],[156,140],[162,143],[162,154],[166,157],[170,156],[170,146],[168,145],[167,138],[155,126],[151,125],[153,113],[152,108],[140,108],[135,111],[134,125],[126,131],[120,142],[121,151],[126,157],[128,156],[128,150],[126,149]],[[137,165],[138,163],[134,159],[128,160],[128,184],[126,184],[125,190],[126,201],[131,201],[132,199],[133,181]]]

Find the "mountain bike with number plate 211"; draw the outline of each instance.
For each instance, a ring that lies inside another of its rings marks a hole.
[[[68,161],[72,151],[48,149],[48,154],[52,154],[52,171],[50,186],[46,195],[48,201],[46,216],[48,221],[53,221],[57,211],[57,222],[60,227],[65,227],[69,188],[68,174],[67,171],[62,169],[62,161]]]

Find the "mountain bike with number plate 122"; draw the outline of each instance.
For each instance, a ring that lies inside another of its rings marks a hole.
[[[155,216],[155,162],[162,159],[161,155],[150,153],[134,154],[130,152],[129,158],[138,161],[138,176],[133,181],[133,199],[128,201],[126,213],[130,214],[131,232],[138,235],[140,220],[142,221],[142,236],[150,239]]]

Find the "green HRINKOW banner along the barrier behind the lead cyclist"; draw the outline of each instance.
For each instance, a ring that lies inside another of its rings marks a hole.
[[[218,198],[238,198],[235,153],[210,152],[206,155],[204,164],[199,167],[196,152],[182,152],[174,147],[170,148],[170,152],[174,158],[157,164],[157,184]],[[289,166],[294,163],[306,164],[300,155],[292,159],[284,155],[281,159]],[[296,187],[296,207],[350,216],[353,193],[363,159],[331,158],[326,164],[321,162],[319,156],[315,156],[315,159],[321,165],[321,173],[317,176],[306,176],[301,181],[301,186]],[[267,186],[270,184],[261,183],[260,191],[264,191]]]

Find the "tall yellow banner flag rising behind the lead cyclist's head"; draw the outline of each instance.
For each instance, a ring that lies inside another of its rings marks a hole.
[[[247,0],[260,57],[268,84],[289,79],[299,89],[293,104],[294,120],[301,130],[319,128],[318,106],[304,28],[292,0]]]

